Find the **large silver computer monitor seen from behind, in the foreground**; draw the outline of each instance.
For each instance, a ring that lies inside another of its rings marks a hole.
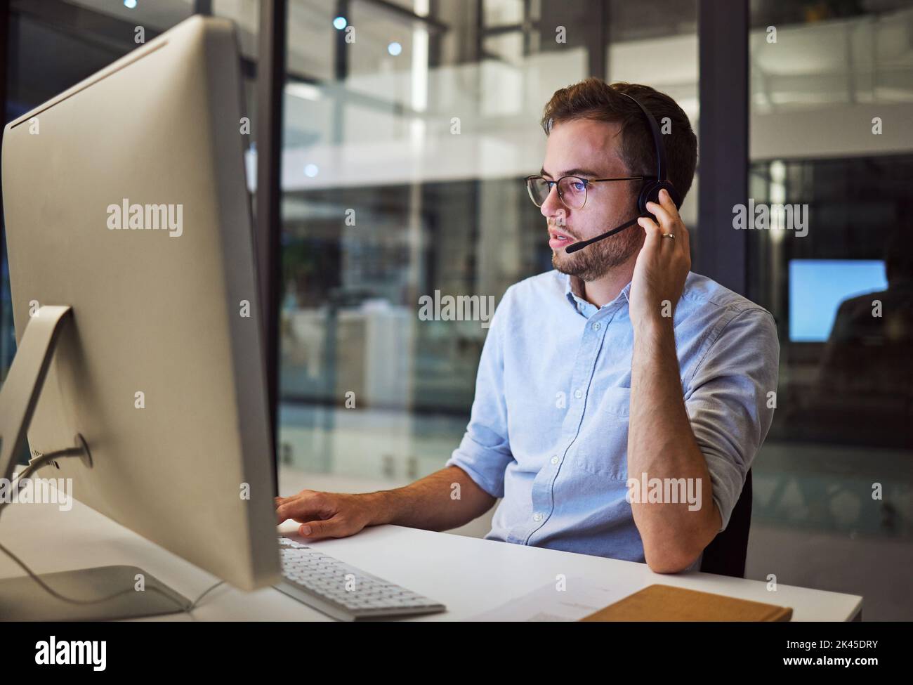
[[[35,476],[251,590],[279,557],[242,116],[234,27],[194,16],[6,125],[0,477],[26,424],[33,457],[84,440]]]

